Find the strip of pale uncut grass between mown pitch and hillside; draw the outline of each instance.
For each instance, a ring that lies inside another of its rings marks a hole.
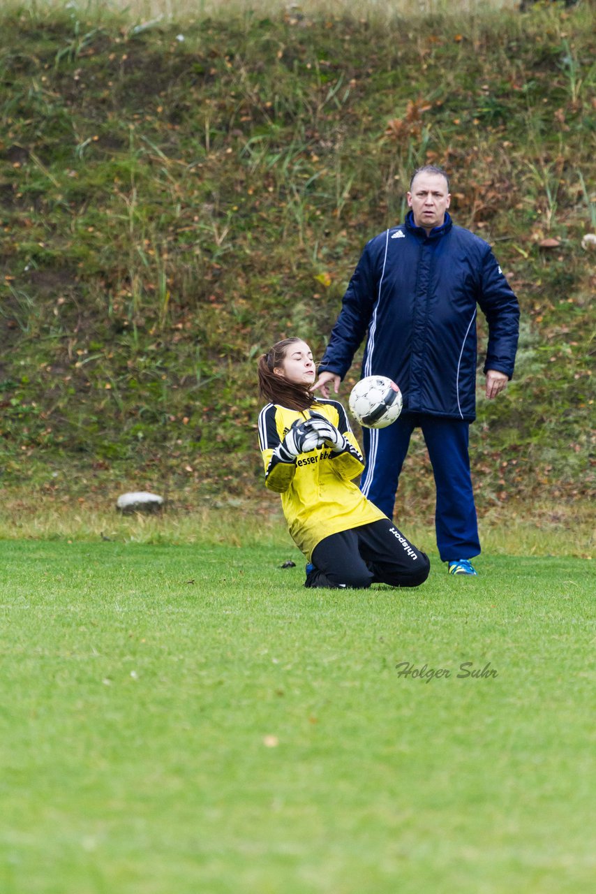
[[[70,503],[70,505],[69,505]],[[98,505],[99,504],[99,505]],[[191,505],[154,515],[122,515],[113,502],[79,497],[61,501],[44,500],[35,494],[23,498],[18,485],[5,488],[0,512],[0,540],[74,540],[96,543],[109,540],[121,544],[192,545],[284,548],[287,558],[303,563],[292,542],[278,501],[253,501],[246,511],[243,501],[212,501],[208,508]],[[432,513],[418,504],[403,519],[407,536],[438,558]],[[594,555],[593,511],[581,503],[566,510],[550,501],[534,503],[529,511],[516,502],[497,503],[480,519],[483,551],[487,555],[575,557],[591,560]]]

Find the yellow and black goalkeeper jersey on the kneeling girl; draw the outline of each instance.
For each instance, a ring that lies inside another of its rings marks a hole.
[[[317,400],[311,409],[345,436],[348,446],[344,451],[333,453],[323,447],[301,453],[295,463],[281,462],[273,451],[293,422],[310,417],[310,410],[299,412],[269,403],[258,421],[265,485],[281,494],[290,535],[308,561],[324,537],[386,518],[353,482],[365,465],[346,411],[338,401],[323,400]]]

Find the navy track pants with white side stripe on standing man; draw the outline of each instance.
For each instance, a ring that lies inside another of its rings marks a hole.
[[[366,467],[360,487],[390,519],[410,436],[415,428],[422,429],[436,485],[434,520],[442,561],[471,559],[480,552],[469,427],[460,419],[404,413],[387,428],[363,428]]]

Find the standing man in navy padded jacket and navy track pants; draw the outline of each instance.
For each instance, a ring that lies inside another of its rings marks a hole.
[[[349,282],[313,389],[337,393],[367,334],[362,375],[388,375],[404,397],[393,425],[364,429],[361,487],[390,518],[410,435],[420,427],[437,489],[435,523],[451,574],[480,552],[468,429],[475,418],[476,306],[489,326],[486,396],[513,375],[519,307],[490,245],[452,223],[449,178],[419,168],[406,222],[370,240]]]

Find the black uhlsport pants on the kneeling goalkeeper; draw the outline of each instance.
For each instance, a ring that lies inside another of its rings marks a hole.
[[[371,584],[419,586],[431,569],[431,563],[390,519],[353,527],[325,537],[316,544],[312,558],[315,570],[306,577],[305,586],[361,589]]]

